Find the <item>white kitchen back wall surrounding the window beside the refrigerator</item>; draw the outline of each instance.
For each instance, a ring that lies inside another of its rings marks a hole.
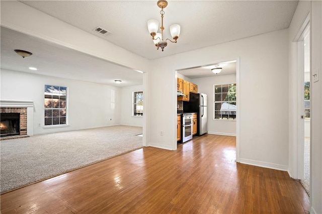
[[[208,108],[207,108],[207,127],[209,134],[218,135],[236,135],[236,121],[221,121],[213,120],[213,85],[215,84],[225,84],[225,83],[236,83],[236,74],[210,76],[203,78],[192,79],[192,82],[198,85],[198,92],[205,93],[208,96]]]

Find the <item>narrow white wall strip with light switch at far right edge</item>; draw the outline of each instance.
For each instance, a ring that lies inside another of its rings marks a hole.
[[[311,74],[311,213],[322,213],[322,2],[312,1],[310,7]]]

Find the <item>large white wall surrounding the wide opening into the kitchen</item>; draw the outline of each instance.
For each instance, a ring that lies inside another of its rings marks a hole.
[[[148,89],[157,98],[150,100],[149,106],[158,114],[153,114],[153,120],[150,115],[147,122],[153,127],[148,132],[150,145],[177,147],[175,70],[236,57],[240,57],[240,160],[287,170],[288,30],[152,60]]]

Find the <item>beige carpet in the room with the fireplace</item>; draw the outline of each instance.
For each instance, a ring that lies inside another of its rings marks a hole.
[[[1,193],[142,148],[141,127],[113,126],[3,140]]]

